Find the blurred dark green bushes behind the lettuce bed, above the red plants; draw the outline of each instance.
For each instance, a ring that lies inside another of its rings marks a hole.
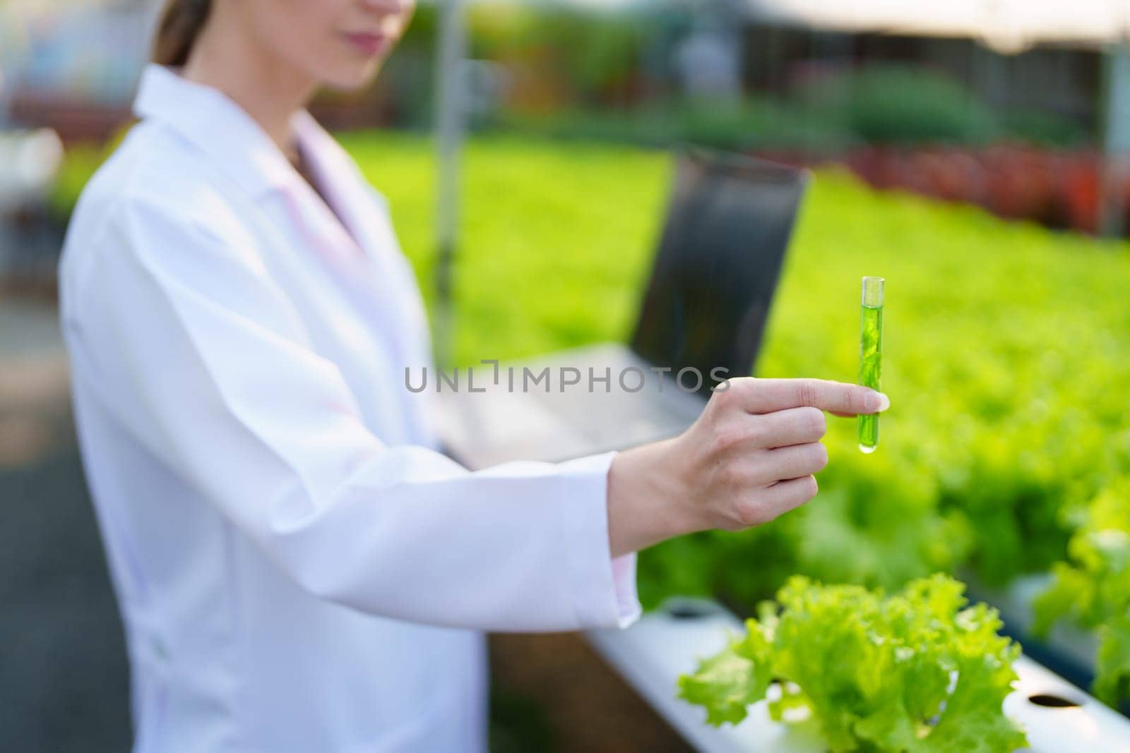
[[[631,63],[632,54],[624,54],[617,60]],[[621,80],[628,73],[617,71]],[[582,81],[571,86],[577,91],[597,90]],[[508,110],[501,124],[518,132],[573,139],[651,145],[693,141],[734,150],[816,154],[835,154],[861,142],[983,146],[1005,139],[1072,148],[1086,141],[1085,129],[1069,119],[1045,112],[994,112],[945,73],[893,64],[844,70],[788,94],[758,91],[733,103],[666,96],[608,107],[594,103],[592,96],[586,100],[577,95],[537,114]]]

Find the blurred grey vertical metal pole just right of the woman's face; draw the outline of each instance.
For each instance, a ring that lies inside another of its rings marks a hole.
[[[434,349],[436,368],[452,366],[452,277],[459,246],[459,163],[463,140],[462,62],[467,29],[461,0],[440,0],[436,65],[436,266]]]

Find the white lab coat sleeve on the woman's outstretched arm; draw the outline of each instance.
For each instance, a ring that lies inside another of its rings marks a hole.
[[[185,214],[116,202],[84,246],[70,356],[123,426],[281,570],[318,597],[438,625],[636,619],[635,555],[609,553],[615,453],[470,472],[383,444],[254,239]]]

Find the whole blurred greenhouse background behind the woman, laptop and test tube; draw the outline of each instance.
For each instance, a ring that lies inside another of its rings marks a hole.
[[[645,552],[649,605],[705,594],[748,612],[792,573],[894,588],[955,572],[1026,650],[1128,709],[1125,5],[466,5],[454,362],[625,340],[681,142],[816,168],[756,375],[854,380],[859,278],[888,281],[884,446],[861,455],[854,424],[829,421],[817,499]],[[0,5],[0,729],[19,750],[128,738],[52,300],[155,12]],[[390,199],[433,306],[440,17],[421,5],[373,88],[314,106]],[[495,747],[594,750],[530,711],[516,643],[494,646]],[[661,724],[624,703],[623,724]],[[616,739],[599,750],[681,750]]]

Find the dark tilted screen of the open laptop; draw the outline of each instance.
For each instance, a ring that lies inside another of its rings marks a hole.
[[[742,155],[689,148],[677,158],[651,280],[632,349],[671,376],[693,367],[699,392],[748,376],[808,173]],[[722,367],[723,373],[712,369]],[[692,375],[680,379],[689,389]]]

